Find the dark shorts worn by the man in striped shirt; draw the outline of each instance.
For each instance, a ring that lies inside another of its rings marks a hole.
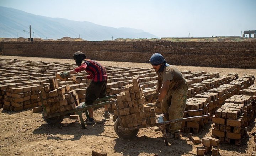
[[[97,98],[106,97],[107,96],[106,90],[107,90],[107,81],[100,81],[100,82],[92,81],[86,90],[85,104],[92,105]]]

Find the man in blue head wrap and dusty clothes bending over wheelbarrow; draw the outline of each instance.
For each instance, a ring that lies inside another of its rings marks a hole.
[[[165,121],[182,119],[186,107],[188,86],[182,73],[172,65],[166,63],[164,57],[155,53],[151,56],[149,62],[155,69],[158,75],[158,83],[156,90],[153,93],[146,95],[146,100],[153,103],[148,103],[147,106],[157,107],[162,109],[162,113],[167,113],[168,117]],[[159,96],[158,96],[158,93]],[[181,123],[171,123],[166,129],[169,133],[169,138],[180,136]]]

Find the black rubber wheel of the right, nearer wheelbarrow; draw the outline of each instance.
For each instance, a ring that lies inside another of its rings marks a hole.
[[[127,130],[127,131],[118,131],[118,126],[120,126],[119,118],[117,118],[115,123],[114,123],[114,130],[115,130],[116,134],[119,137],[123,138],[123,139],[132,139],[139,132],[139,129]]]

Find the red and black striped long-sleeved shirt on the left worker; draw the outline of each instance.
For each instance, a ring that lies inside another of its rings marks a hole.
[[[90,59],[82,61],[82,65],[75,68],[76,72],[86,71],[89,75],[87,79],[92,79],[94,82],[106,81],[107,73],[106,69],[98,62]]]

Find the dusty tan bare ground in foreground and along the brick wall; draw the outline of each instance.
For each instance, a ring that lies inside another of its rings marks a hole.
[[[0,56],[0,58],[75,63],[74,60],[68,59],[17,56]],[[146,63],[98,62],[104,66],[151,67]],[[245,73],[256,74],[256,69],[177,67],[181,71],[219,72],[221,75],[229,72],[238,73],[239,76]],[[94,116],[97,124],[82,129],[80,121],[70,120],[68,116],[61,124],[51,126],[44,122],[41,113],[33,113],[32,109],[20,112],[0,109],[0,155],[91,155],[92,150],[95,149],[107,151],[108,156],[196,155],[198,145],[189,141],[186,133],[181,133],[180,140],[169,139],[169,147],[165,146],[161,132],[154,131],[155,127],[140,129],[137,137],[125,140],[119,138],[114,132],[113,115],[110,119],[106,119],[102,117],[102,114],[103,108],[95,110]],[[85,115],[84,118],[86,118]],[[67,123],[67,126],[64,123]],[[242,139],[241,146],[221,144],[219,155],[251,155],[255,143],[250,134],[256,131],[255,123],[256,120],[247,127],[248,136]],[[212,127],[212,122],[209,122],[203,131],[197,134],[198,137],[210,136]]]

